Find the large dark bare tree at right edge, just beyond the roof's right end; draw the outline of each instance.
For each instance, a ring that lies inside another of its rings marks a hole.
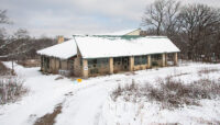
[[[204,4],[187,5],[182,9],[178,21],[189,59],[198,57],[205,47],[210,50],[212,43],[209,39],[219,31],[216,29],[220,24],[219,10]]]

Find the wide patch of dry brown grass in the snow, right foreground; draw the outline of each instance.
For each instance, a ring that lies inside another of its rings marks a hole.
[[[138,86],[134,81],[125,87],[118,87],[111,94],[113,101],[122,96],[124,101],[156,101],[163,109],[177,109],[184,105],[199,105],[201,99],[220,98],[220,83],[217,80],[200,79],[190,83],[173,80],[170,77],[158,79],[154,88],[150,83]],[[154,83],[154,84],[155,84]],[[153,84],[153,83],[152,83]]]

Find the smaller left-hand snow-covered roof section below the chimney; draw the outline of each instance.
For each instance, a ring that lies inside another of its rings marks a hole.
[[[62,44],[57,44],[57,45],[37,50],[37,54],[67,59],[77,55],[76,42],[73,38]]]

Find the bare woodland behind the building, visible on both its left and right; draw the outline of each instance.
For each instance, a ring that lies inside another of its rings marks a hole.
[[[7,11],[0,10],[0,56],[33,58],[37,49],[56,44],[55,38],[31,37],[25,29],[8,35],[2,25],[11,24]],[[146,7],[141,25],[146,29],[146,35],[170,38],[180,48],[183,59],[220,59],[219,8],[156,0]]]

